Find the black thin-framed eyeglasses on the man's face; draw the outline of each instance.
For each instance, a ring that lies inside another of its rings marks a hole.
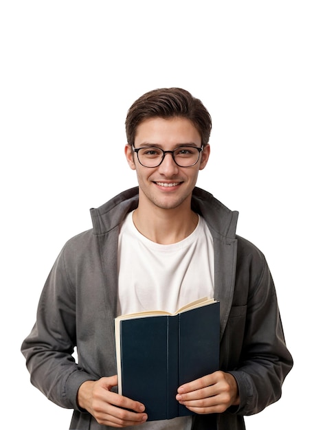
[[[161,148],[155,148],[155,146],[146,148],[135,148],[132,145],[132,149],[137,154],[139,163],[144,167],[158,167],[164,161],[166,154],[171,154],[172,159],[179,167],[191,167],[199,161],[200,152],[203,150],[196,146],[179,146],[179,148],[173,151],[164,151]]]

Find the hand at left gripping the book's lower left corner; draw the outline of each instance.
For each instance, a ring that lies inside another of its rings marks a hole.
[[[144,413],[144,405],[111,392],[115,385],[117,375],[85,381],[78,389],[78,405],[87,409],[99,424],[106,426],[127,427],[146,421],[148,416]]]

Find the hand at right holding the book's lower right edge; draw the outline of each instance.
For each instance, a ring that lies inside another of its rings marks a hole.
[[[179,403],[196,414],[221,413],[240,403],[234,376],[221,371],[181,385],[177,392]]]

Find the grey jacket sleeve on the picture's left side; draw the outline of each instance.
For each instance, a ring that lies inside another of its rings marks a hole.
[[[36,324],[21,352],[34,386],[57,405],[78,409],[80,385],[95,379],[73,357],[76,346],[76,292],[65,267],[65,247],[41,293]]]

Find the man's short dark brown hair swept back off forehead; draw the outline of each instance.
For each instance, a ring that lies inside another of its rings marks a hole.
[[[210,138],[212,120],[198,98],[185,89],[161,88],[145,93],[135,100],[126,116],[126,137],[128,144],[134,144],[137,126],[152,117],[165,119],[187,118],[201,136],[201,144],[207,145]]]

